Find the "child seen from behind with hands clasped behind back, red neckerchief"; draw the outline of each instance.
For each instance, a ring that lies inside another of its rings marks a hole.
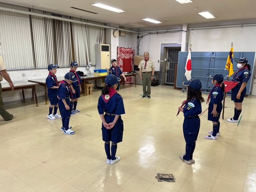
[[[98,111],[102,121],[102,140],[105,141],[107,164],[114,164],[120,160],[116,156],[117,143],[123,140],[124,124],[121,118],[125,114],[124,102],[116,91],[120,78],[108,75],[105,78],[105,86],[101,91],[98,101]],[[111,153],[110,153],[111,141]]]

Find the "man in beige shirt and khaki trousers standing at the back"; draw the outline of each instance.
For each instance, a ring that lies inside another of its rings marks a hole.
[[[142,98],[150,99],[151,94],[151,82],[154,79],[155,64],[152,59],[149,59],[149,53],[145,52],[143,54],[144,59],[140,61],[140,80],[142,80],[143,95]]]

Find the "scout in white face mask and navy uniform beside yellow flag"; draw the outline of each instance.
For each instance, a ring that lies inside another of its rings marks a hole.
[[[232,81],[238,84],[231,90],[231,100],[235,103],[234,117],[228,118],[231,123],[238,123],[239,115],[242,113],[242,102],[246,94],[246,84],[250,79],[251,66],[248,64],[247,58],[240,58],[237,61],[237,68]]]

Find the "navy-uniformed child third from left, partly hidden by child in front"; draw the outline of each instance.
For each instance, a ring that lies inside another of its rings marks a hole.
[[[71,109],[71,114],[76,114],[79,113],[80,111],[76,109],[77,106],[77,101],[78,98],[80,97],[80,93],[81,93],[81,84],[82,84],[82,80],[81,77],[79,76],[78,73],[76,73],[76,69],[78,67],[78,63],[77,62],[71,62],[70,64],[70,71],[71,73],[74,73],[76,76],[77,81],[73,82],[70,85],[70,88],[72,90],[72,94],[73,94],[73,98],[70,101],[70,109]],[[74,108],[73,108],[74,106]]]

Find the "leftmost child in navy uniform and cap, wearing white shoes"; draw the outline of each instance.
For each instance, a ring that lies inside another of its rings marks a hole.
[[[59,66],[55,65],[55,64],[50,64],[48,66],[48,70],[49,70],[49,75],[46,78],[46,85],[47,85],[47,94],[50,100],[50,107],[49,107],[49,114],[47,116],[47,118],[49,119],[55,119],[55,118],[60,118],[61,116],[57,114],[57,110],[58,110],[58,80],[57,77],[55,76],[55,74],[57,73],[57,68]],[[54,107],[54,111],[52,113]]]

